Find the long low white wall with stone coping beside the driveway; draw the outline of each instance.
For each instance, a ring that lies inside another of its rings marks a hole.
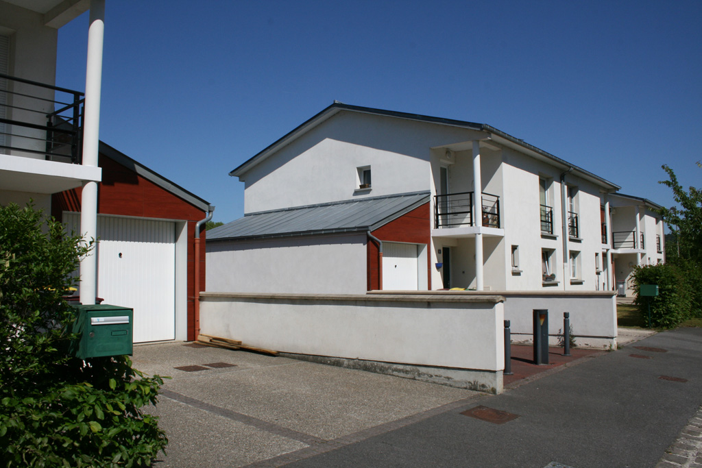
[[[201,293],[201,333],[300,358],[502,392],[501,295]]]

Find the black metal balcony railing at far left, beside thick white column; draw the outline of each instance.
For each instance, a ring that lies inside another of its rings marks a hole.
[[[83,93],[0,74],[0,154],[81,163]]]

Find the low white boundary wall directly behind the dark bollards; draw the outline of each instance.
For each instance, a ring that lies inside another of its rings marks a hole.
[[[373,291],[370,295],[378,294]],[[396,294],[402,294],[399,291]],[[413,292],[417,295],[416,292]],[[425,294],[424,292],[419,294]],[[427,291],[426,294],[436,294]],[[534,336],[534,309],[548,309],[549,344],[559,344],[563,333],[563,313],[570,313],[576,346],[616,349],[615,291],[442,291],[451,296],[505,298],[505,320],[510,321],[512,342],[531,342]]]

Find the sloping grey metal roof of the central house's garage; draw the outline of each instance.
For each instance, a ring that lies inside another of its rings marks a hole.
[[[249,213],[210,229],[207,241],[372,231],[428,201],[427,191]]]

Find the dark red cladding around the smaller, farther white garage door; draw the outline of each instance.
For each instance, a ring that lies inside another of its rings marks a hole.
[[[381,241],[424,243],[429,248],[431,240],[429,203],[418,206],[418,208],[411,210],[406,215],[402,215],[397,220],[388,222],[387,225],[379,227],[371,234]],[[366,244],[366,253],[368,289],[380,289],[378,244],[369,239]],[[431,255],[427,255],[427,274],[429,279],[428,287],[431,290]]]

